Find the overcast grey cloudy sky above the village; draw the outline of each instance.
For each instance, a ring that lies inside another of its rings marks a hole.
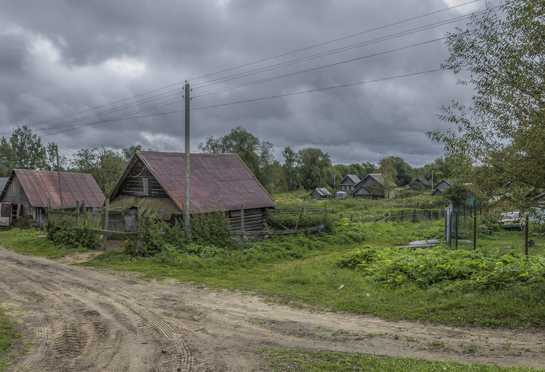
[[[101,145],[184,151],[187,80],[193,152],[241,125],[281,162],[292,145],[334,164],[422,166],[443,154],[423,135],[449,127],[441,106],[472,92],[449,71],[397,76],[439,68],[437,39],[468,20],[428,27],[485,7],[441,11],[468,1],[3,0],[0,133],[31,125],[68,158]],[[97,123],[112,118],[123,120]]]

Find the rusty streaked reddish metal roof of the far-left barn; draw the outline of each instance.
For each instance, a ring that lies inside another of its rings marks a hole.
[[[54,171],[35,171],[14,169],[5,184],[2,196],[14,177],[19,179],[28,201],[33,207],[47,207],[47,199],[52,206],[60,206],[59,176]],[[63,205],[76,205],[76,200],[84,200],[89,207],[104,205],[106,197],[99,185],[89,173],[60,172],[60,185],[63,193]]]

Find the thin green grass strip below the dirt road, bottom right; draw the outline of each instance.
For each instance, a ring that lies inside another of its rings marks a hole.
[[[378,372],[531,372],[531,367],[499,367],[498,365],[480,365],[458,362],[437,362],[424,359],[402,357],[379,358],[360,353],[342,354],[328,351],[256,349],[268,363],[262,370],[273,371],[378,371]]]

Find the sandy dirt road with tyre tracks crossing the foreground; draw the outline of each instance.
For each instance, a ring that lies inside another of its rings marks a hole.
[[[545,368],[545,331],[310,313],[0,248],[0,301],[35,343],[19,371],[251,371],[256,347]],[[444,343],[444,344],[443,344]]]

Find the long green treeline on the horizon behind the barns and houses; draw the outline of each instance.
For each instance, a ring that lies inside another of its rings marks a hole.
[[[0,139],[0,177],[8,177],[13,169],[37,169],[90,173],[102,191],[107,194],[117,181],[125,165],[141,145],[132,145],[115,152],[104,146],[82,148],[66,158],[60,155],[56,143],[41,142],[32,129],[23,125],[8,138]],[[337,188],[347,174],[360,179],[369,173],[383,173],[399,186],[416,177],[431,180],[450,178],[455,171],[455,161],[438,158],[431,164],[413,168],[400,157],[384,157],[378,164],[332,164],[328,153],[319,148],[303,148],[294,151],[286,147],[282,151],[283,163],[274,156],[271,142],[261,141],[245,128],[233,128],[221,137],[208,137],[198,145],[204,153],[236,153],[268,191],[284,192],[296,189],[310,190],[316,187]],[[152,149],[148,149],[152,150]],[[59,167],[57,167],[57,163]]]

